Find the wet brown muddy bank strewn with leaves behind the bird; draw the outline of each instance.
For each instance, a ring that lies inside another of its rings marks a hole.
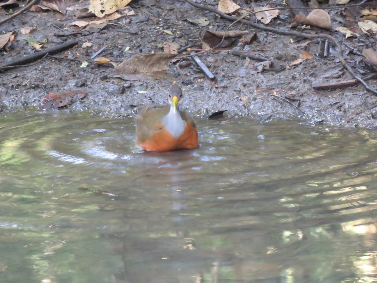
[[[176,81],[184,89],[185,108],[197,117],[206,117],[212,112],[227,109],[227,115],[259,116],[266,120],[302,117],[312,122],[344,127],[374,126],[373,109],[369,108],[376,105],[377,98],[361,85],[333,91],[315,91],[311,87],[313,83],[352,79],[335,57],[338,54],[332,45],[328,58],[314,56],[311,60],[280,71],[259,72],[255,67],[259,62],[227,52],[200,55],[216,75],[214,83],[204,77],[194,64],[179,69],[179,62],[172,64],[163,78],[148,82],[128,82],[114,78],[114,70],[110,66],[89,64],[86,68],[80,68],[84,60],[90,61],[90,57],[104,45],[110,47],[100,54],[101,57],[121,61],[135,55],[162,52],[161,46],[168,40],[179,43],[181,47],[189,44],[200,47],[198,36],[205,30],[223,31],[230,24],[185,1],[149,0],[130,5],[136,15],[112,21],[118,23],[118,26],[107,25],[103,30],[89,34],[69,34],[70,23],[77,20],[74,9],[77,6],[87,7],[88,4],[88,1],[66,1],[68,11],[65,16],[52,11],[28,11],[0,26],[6,32],[33,27],[34,32],[28,36],[38,40],[48,38],[46,47],[68,40],[79,40],[76,48],[54,57],[46,57],[36,65],[0,74],[3,112],[37,109],[38,103],[49,92],[81,90],[86,91],[87,96],[80,102],[67,106],[68,108],[88,110],[94,115],[106,117],[133,116],[142,105],[165,102],[169,85]],[[241,4],[250,5],[243,1]],[[259,1],[258,5],[266,6],[267,1]],[[207,18],[209,25],[200,28],[186,20],[196,15]],[[288,30],[291,17],[290,11],[282,10],[279,18],[270,25]],[[234,28],[239,26],[235,24]],[[161,32],[160,28],[171,31],[173,35]],[[135,31],[135,34],[123,32],[122,29]],[[248,27],[242,25],[241,29],[248,30]],[[265,31],[257,33],[258,40],[251,44],[251,50],[273,59],[277,66],[289,65],[300,58],[304,49],[311,54],[317,53],[318,40],[303,47],[294,45],[292,38],[288,36]],[[342,34],[336,36],[340,40],[344,38]],[[1,52],[0,62],[34,52],[34,48],[28,46],[23,37],[26,36],[19,34],[10,51]],[[91,43],[91,46],[84,48],[84,43]],[[360,50],[365,45],[358,38],[348,38],[347,43]],[[375,46],[375,36],[368,38],[368,44]],[[129,50],[125,51],[127,46]],[[236,46],[237,42],[230,48]],[[239,47],[245,48],[243,45]],[[362,56],[348,55],[348,60],[360,65]],[[376,80],[368,83],[377,87]]]

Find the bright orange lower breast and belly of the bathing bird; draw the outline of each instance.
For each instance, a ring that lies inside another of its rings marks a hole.
[[[171,151],[174,149],[192,149],[199,146],[198,131],[186,123],[182,135],[175,138],[166,128],[155,131],[152,138],[139,144],[148,151]]]

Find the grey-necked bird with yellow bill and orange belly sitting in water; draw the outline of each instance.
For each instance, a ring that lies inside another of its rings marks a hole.
[[[143,106],[136,116],[136,143],[147,151],[173,151],[199,146],[198,130],[189,112],[180,109],[182,89],[173,84],[169,104]]]

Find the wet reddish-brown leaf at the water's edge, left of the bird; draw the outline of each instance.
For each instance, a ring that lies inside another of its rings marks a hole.
[[[84,98],[86,92],[84,91],[66,91],[61,93],[49,93],[46,95],[39,104],[40,109],[52,109],[77,102],[79,99]]]

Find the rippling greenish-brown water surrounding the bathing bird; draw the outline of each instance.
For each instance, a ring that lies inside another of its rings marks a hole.
[[[376,133],[199,120],[143,152],[132,118],[1,114],[0,282],[372,282]]]

